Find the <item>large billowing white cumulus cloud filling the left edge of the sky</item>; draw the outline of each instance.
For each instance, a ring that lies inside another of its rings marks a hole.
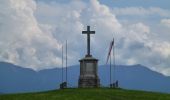
[[[0,8],[1,61],[34,69],[60,63],[55,56],[60,44],[40,29],[34,17],[35,1],[1,0]]]

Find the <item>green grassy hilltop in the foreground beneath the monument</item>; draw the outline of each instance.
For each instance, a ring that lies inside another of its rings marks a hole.
[[[63,89],[0,95],[0,100],[170,100],[170,94],[124,89]]]

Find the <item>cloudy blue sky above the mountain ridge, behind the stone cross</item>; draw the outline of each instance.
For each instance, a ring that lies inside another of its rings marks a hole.
[[[106,63],[115,39],[118,65],[142,64],[170,76],[169,0],[1,0],[0,61],[34,70],[61,67],[68,41],[68,65],[91,53]]]

